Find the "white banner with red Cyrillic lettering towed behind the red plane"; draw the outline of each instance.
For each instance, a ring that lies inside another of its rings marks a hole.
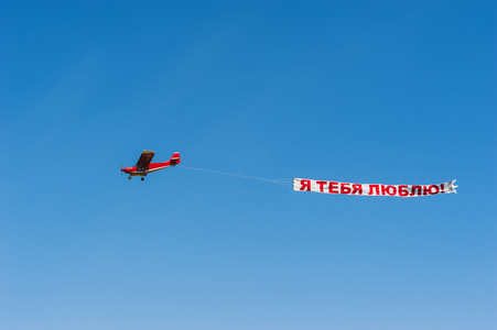
[[[293,178],[293,190],[314,191],[325,194],[356,195],[356,196],[397,196],[397,197],[418,197],[439,194],[451,194],[457,186],[455,180],[437,185],[369,185],[369,184],[349,184],[326,180],[313,180],[303,178]]]

